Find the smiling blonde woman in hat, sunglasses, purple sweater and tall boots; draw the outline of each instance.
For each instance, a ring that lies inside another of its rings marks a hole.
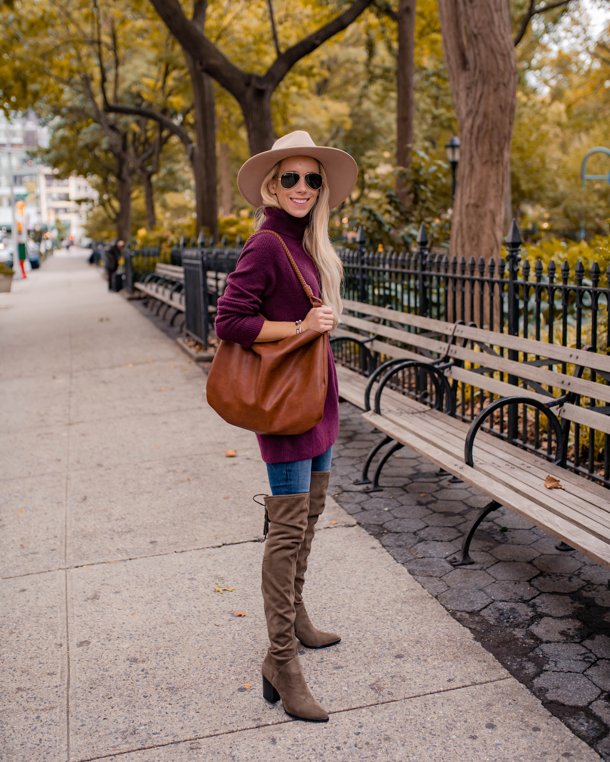
[[[258,207],[257,231],[273,230],[281,236],[323,306],[312,309],[281,242],[274,235],[253,235],[218,300],[219,338],[248,348],[258,341],[288,338],[295,331],[325,333],[335,328],[342,312],[342,265],[329,240],[329,210],[348,197],[357,177],[350,155],[316,146],[301,130],[242,166],[237,184],[242,196]],[[281,697],[288,714],[313,722],[326,722],[329,716],[307,687],[295,636],[307,648],[340,640],[334,632],[312,625],[302,596],[316,521],[326,501],[332,444],[339,434],[339,392],[330,344],[328,351],[322,421],[304,434],[257,434],[271,485],[271,496],[265,497],[269,530],[262,562],[270,641],[262,663],[263,695],[271,702]]]

